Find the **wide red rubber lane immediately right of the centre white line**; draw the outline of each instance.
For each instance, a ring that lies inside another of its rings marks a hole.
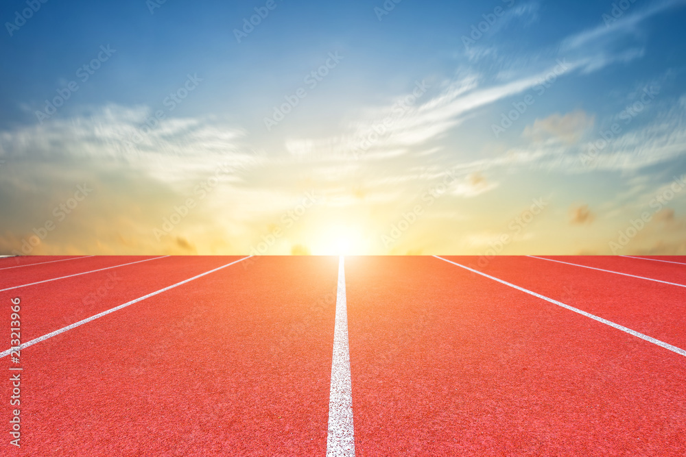
[[[686,453],[683,356],[436,258],[346,258],[346,293],[356,456]]]

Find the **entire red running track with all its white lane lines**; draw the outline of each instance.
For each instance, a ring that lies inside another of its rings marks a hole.
[[[0,258],[0,455],[686,454],[686,258],[484,260]]]

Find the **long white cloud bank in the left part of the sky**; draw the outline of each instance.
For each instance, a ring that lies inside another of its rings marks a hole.
[[[0,133],[0,156],[29,162],[133,162],[161,179],[191,180],[227,160],[235,166],[259,160],[241,145],[241,129],[208,119],[171,118],[148,131],[149,117],[145,107],[109,105],[70,119],[18,127]]]

